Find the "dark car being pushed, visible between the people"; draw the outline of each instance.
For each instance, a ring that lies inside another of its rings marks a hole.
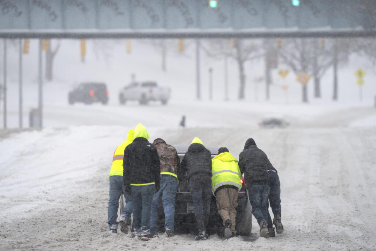
[[[177,154],[179,155],[180,162],[188,150],[189,145],[174,145]],[[218,147],[206,147],[210,152],[212,158],[218,153]],[[175,199],[175,219],[174,219],[174,231],[175,233],[184,234],[198,234],[196,217],[194,216],[194,205],[192,195],[190,193],[190,186],[186,177],[180,178],[178,191]],[[252,231],[252,207],[250,205],[247,190],[245,187],[244,176],[242,178],[242,187],[238,193],[238,207],[236,216],[236,230],[237,234],[241,236],[250,236]],[[132,220],[131,220],[132,222]],[[158,210],[158,232],[164,232],[164,211],[160,201]],[[133,223],[133,222],[132,222]],[[133,227],[131,223],[131,229]],[[206,229],[208,234],[217,233],[219,236],[223,236],[223,222],[218,214],[215,196],[211,196],[210,213],[208,220],[208,227]]]

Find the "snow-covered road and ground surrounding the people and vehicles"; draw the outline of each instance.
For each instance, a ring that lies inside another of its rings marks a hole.
[[[265,72],[262,60],[246,64],[246,99],[235,101],[238,70],[236,62],[229,61],[230,101],[223,102],[223,61],[202,53],[202,101],[196,101],[192,41],[187,41],[184,53],[168,51],[167,72],[161,71],[161,56],[149,42],[132,41],[132,53],[126,54],[125,41],[89,40],[82,63],[79,41],[62,40],[55,82],[44,84],[42,130],[17,129],[18,55],[17,48],[10,47],[7,126],[11,129],[0,130],[0,250],[376,250],[376,75],[368,61],[352,57],[339,70],[337,102],[331,101],[332,70],[321,81],[321,99],[313,97],[311,80],[309,104],[300,103],[301,86],[293,73],[286,80],[290,87],[285,100],[277,69],[272,73],[271,100],[262,101],[265,86],[256,81]],[[30,109],[37,107],[36,42],[31,41],[30,54],[24,55],[24,128]],[[212,102],[206,81],[209,67],[214,69]],[[362,102],[354,75],[359,67],[367,72]],[[168,105],[120,106],[118,90],[132,73],[137,80],[171,87]],[[108,84],[109,104],[69,106],[69,89],[89,80]],[[2,107],[0,112],[2,125]],[[186,128],[178,126],[182,115]],[[284,118],[291,126],[259,129],[257,123],[270,116]],[[120,231],[109,236],[112,154],[139,122],[149,130],[150,140],[189,144],[198,136],[205,145],[226,146],[235,157],[246,139],[254,138],[279,171],[284,233],[258,238],[253,220],[250,238],[211,236],[196,242],[190,235],[162,234],[144,242]]]

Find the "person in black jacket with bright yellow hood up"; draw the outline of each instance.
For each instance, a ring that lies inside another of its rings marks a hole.
[[[160,161],[156,147],[147,141],[149,133],[142,124],[135,129],[132,144],[124,150],[123,182],[125,192],[132,196],[134,234],[143,240],[150,233],[150,208],[153,195],[159,190]]]

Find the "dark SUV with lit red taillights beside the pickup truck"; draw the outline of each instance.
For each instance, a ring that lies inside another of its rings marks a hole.
[[[105,83],[81,83],[68,94],[69,104],[83,102],[91,104],[93,102],[108,103],[108,90]]]

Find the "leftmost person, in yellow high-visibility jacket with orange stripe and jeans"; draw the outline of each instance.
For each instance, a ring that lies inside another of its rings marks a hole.
[[[120,230],[123,233],[128,233],[127,222],[130,222],[130,215],[132,214],[132,197],[125,193],[125,187],[123,182],[123,158],[124,149],[133,142],[133,135],[135,131],[129,130],[127,135],[127,140],[119,145],[112,158],[112,166],[108,179],[110,180],[110,191],[109,191],[109,201],[108,201],[108,227],[110,228],[110,234],[117,233],[118,223],[117,223],[117,211],[119,208],[119,199],[121,194],[125,197],[125,207],[120,214]]]

